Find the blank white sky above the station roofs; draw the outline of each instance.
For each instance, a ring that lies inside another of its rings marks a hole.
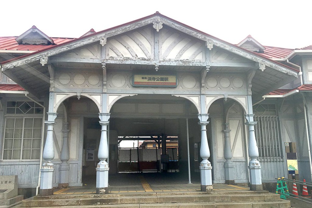
[[[1,1],[0,36],[19,36],[36,25],[51,37],[80,37],[159,11],[191,27],[237,44],[247,35],[265,46],[312,44],[312,1]]]

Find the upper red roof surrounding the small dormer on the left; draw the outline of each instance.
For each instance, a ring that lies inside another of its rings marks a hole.
[[[39,51],[47,48],[51,48],[54,45],[18,45],[15,40],[17,36],[13,37],[0,37],[0,50],[18,50],[18,51]],[[61,38],[52,37],[51,38],[56,45],[71,41],[75,38]]]

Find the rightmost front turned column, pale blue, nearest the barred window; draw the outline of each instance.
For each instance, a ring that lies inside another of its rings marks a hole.
[[[250,189],[253,191],[262,190],[262,182],[261,182],[261,164],[258,161],[259,151],[256,142],[255,135],[255,125],[256,121],[254,121],[255,114],[246,114],[245,123],[248,127],[248,153],[251,158],[249,162],[249,175],[250,175]]]

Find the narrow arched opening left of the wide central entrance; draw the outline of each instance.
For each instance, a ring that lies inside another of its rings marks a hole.
[[[101,134],[98,105],[88,97],[71,96],[55,107],[54,186],[95,186]]]

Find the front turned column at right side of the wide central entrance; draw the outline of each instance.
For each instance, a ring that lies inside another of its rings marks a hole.
[[[201,191],[212,191],[212,166],[208,161],[208,158],[210,157],[210,151],[206,129],[206,126],[209,123],[209,121],[207,121],[208,118],[209,114],[198,114],[198,124],[201,126],[200,157],[202,158],[202,162],[199,166]]]

